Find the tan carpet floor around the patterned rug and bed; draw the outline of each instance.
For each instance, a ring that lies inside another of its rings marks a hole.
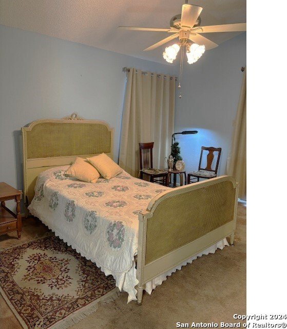
[[[0,236],[0,250],[50,234],[35,218],[23,220],[21,240],[16,233]],[[234,314],[246,314],[246,205],[239,203],[235,246],[203,255],[168,277],[143,304],[126,303],[127,294],[72,326],[89,328],[175,328],[176,322],[235,322]],[[21,324],[0,296],[0,321],[5,329]]]

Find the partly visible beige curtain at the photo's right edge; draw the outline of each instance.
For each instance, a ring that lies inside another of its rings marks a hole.
[[[226,173],[235,177],[239,182],[238,197],[246,200],[246,67],[243,73],[232,146],[227,158]]]

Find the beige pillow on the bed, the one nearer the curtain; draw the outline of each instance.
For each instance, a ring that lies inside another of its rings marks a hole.
[[[116,162],[113,162],[105,153],[87,158],[87,160],[106,179],[110,179],[123,172],[122,168]]]

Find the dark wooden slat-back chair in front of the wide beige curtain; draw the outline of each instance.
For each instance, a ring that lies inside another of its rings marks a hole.
[[[149,181],[158,182],[162,185],[167,185],[167,170],[155,169],[152,167],[152,149],[154,142],[139,143],[140,145],[140,172],[139,177],[143,179],[143,174],[149,176]],[[155,179],[161,178],[162,179]]]

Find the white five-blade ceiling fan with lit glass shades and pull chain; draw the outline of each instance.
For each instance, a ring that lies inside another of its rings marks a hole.
[[[212,49],[218,46],[213,41],[202,36],[201,33],[246,31],[246,23],[200,26],[201,18],[199,15],[202,9],[203,8],[200,6],[189,5],[188,0],[185,0],[185,4],[182,5],[181,14],[175,15],[171,18],[169,24],[170,28],[168,29],[132,26],[119,26],[118,28],[124,30],[161,31],[173,33],[167,38],[155,43],[154,45],[145,48],[144,51],[153,50],[161,45],[164,45],[170,40],[179,38],[179,42],[165,48],[165,51],[163,52],[163,58],[168,63],[173,63],[179,50],[181,49],[180,79],[178,86],[180,88],[184,48],[186,49],[187,62],[188,64],[192,64],[202,56],[205,49]],[[181,98],[181,94],[179,97]]]

